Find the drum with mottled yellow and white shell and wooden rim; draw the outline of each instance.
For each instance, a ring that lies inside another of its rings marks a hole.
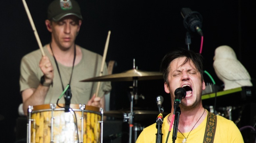
[[[64,107],[64,104],[59,104]],[[70,104],[70,111],[56,104],[30,106],[29,143],[99,143],[102,141],[102,108]]]

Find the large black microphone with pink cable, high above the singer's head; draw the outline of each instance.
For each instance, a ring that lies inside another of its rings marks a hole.
[[[181,8],[181,16],[184,18],[183,25],[188,31],[196,32],[203,36],[202,15],[197,11],[192,11],[190,8]]]

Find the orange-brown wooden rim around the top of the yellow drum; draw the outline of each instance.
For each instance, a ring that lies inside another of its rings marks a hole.
[[[70,104],[70,108],[73,111],[82,111],[80,109],[79,105],[83,105],[83,104]],[[64,107],[65,104],[59,104],[59,106]],[[37,113],[37,112],[43,112],[43,111],[62,111],[62,110],[64,110],[64,108],[61,108],[59,106],[54,104],[55,108],[52,109],[51,108],[51,104],[34,105],[34,106],[32,106],[32,112],[31,113]],[[95,107],[95,106],[85,105],[85,109],[83,111],[84,112],[95,113],[95,114],[101,115],[100,108],[99,107]]]

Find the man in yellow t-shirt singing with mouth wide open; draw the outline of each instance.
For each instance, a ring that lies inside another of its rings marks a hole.
[[[208,112],[202,105],[202,90],[205,89],[203,80],[203,58],[199,53],[180,49],[165,55],[160,64],[163,73],[164,90],[170,93],[171,104],[177,97],[175,90],[183,87],[185,97],[180,98],[181,114],[179,118],[176,140],[172,139],[174,108],[163,119],[163,143],[243,143],[243,137],[233,121]],[[154,143],[156,141],[156,123],[140,133],[136,143]],[[169,133],[169,136],[168,136]],[[168,136],[168,138],[167,138]]]

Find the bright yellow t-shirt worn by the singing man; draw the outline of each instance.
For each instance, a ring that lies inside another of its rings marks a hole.
[[[208,112],[207,112],[208,114]],[[162,124],[162,143],[166,142],[166,138],[169,132],[169,124],[167,122],[168,115],[163,119]],[[202,143],[204,138],[204,132],[206,127],[207,117],[203,120],[203,122],[195,129],[193,129],[190,134],[182,133],[185,137],[187,137],[187,143]],[[156,123],[146,127],[140,133],[136,143],[155,143],[156,142]],[[173,129],[171,130],[168,143],[172,143],[172,134]],[[184,136],[180,132],[177,133],[177,139],[175,142],[181,143],[184,139]],[[217,126],[214,137],[214,143],[244,143],[243,137],[237,126],[233,121],[228,120],[222,116],[217,115]]]

